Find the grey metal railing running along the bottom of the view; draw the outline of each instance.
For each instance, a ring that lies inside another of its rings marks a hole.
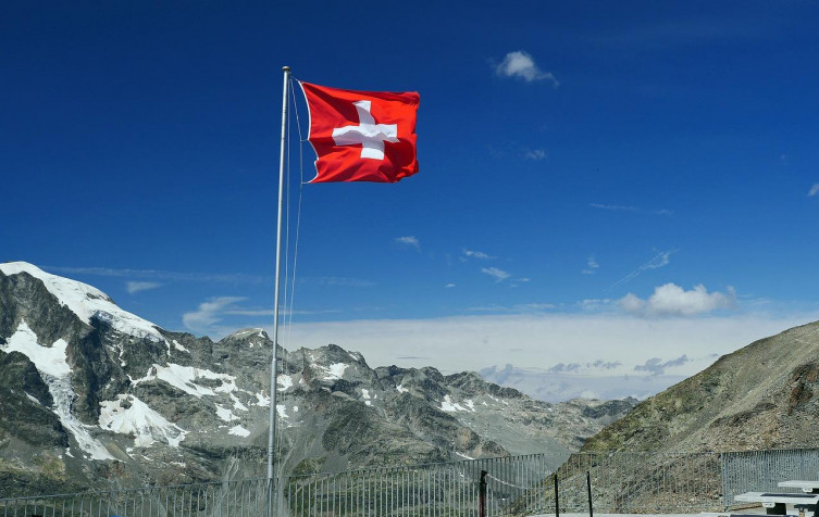
[[[746,491],[817,479],[819,450],[735,453],[533,454],[175,487],[0,500],[0,517],[487,516],[595,512],[698,513]],[[558,497],[555,494],[557,477]],[[587,478],[588,477],[588,478]]]

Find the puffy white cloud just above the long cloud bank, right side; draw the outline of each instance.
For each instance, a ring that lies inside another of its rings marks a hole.
[[[733,288],[728,292],[708,292],[702,283],[686,291],[674,283],[666,283],[654,289],[647,300],[628,293],[618,301],[620,308],[637,316],[697,316],[720,308],[731,308],[736,304]]]

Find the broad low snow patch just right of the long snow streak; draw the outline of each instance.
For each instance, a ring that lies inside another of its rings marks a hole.
[[[127,408],[122,406],[123,401],[128,404]],[[100,427],[120,434],[133,434],[135,446],[147,447],[160,441],[177,447],[188,432],[134,395],[120,394],[115,401],[100,402]]]

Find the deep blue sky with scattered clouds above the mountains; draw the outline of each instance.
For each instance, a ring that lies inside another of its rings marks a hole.
[[[418,175],[301,191],[286,346],[690,375],[819,316],[818,29],[808,1],[5,2],[0,261],[269,327],[286,64],[421,93]]]

